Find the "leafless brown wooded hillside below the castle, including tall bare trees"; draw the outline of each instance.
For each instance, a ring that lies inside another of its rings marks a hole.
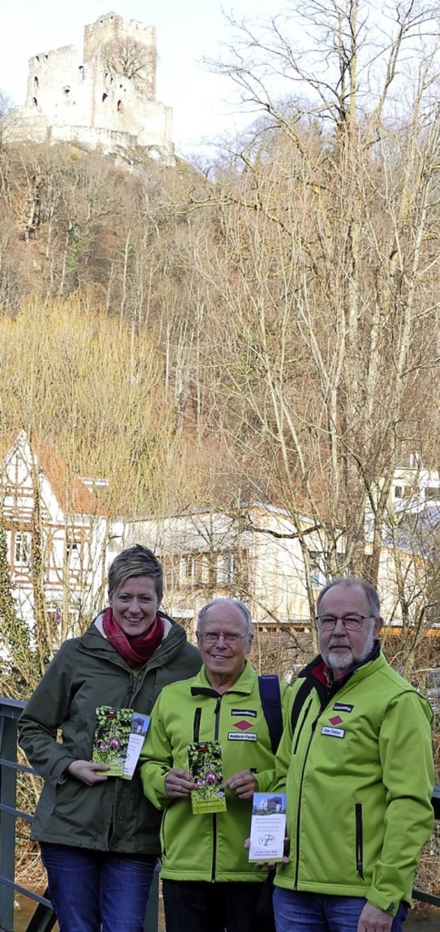
[[[403,536],[390,496],[410,453],[439,461],[437,33],[408,4],[371,45],[361,7],[233,24],[219,68],[265,116],[212,177],[3,143],[3,418],[110,477],[110,511],[272,502],[313,519],[327,573],[373,583],[385,535],[422,630],[438,535]]]

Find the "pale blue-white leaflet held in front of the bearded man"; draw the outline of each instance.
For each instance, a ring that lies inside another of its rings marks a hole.
[[[286,836],[286,794],[254,793],[249,861],[281,861]]]

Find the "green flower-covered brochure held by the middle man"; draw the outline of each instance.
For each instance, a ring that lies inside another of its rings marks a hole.
[[[197,741],[188,745],[189,771],[197,789],[191,792],[193,816],[226,810],[223,762],[219,741]]]

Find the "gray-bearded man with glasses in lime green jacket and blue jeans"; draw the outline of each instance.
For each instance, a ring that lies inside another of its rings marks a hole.
[[[295,683],[276,759],[290,839],[276,929],[402,932],[433,827],[433,713],[380,651],[369,583],[328,583],[316,624],[321,652]]]

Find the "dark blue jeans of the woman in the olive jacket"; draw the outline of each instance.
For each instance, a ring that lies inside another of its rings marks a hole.
[[[157,857],[40,843],[60,932],[143,932]]]

